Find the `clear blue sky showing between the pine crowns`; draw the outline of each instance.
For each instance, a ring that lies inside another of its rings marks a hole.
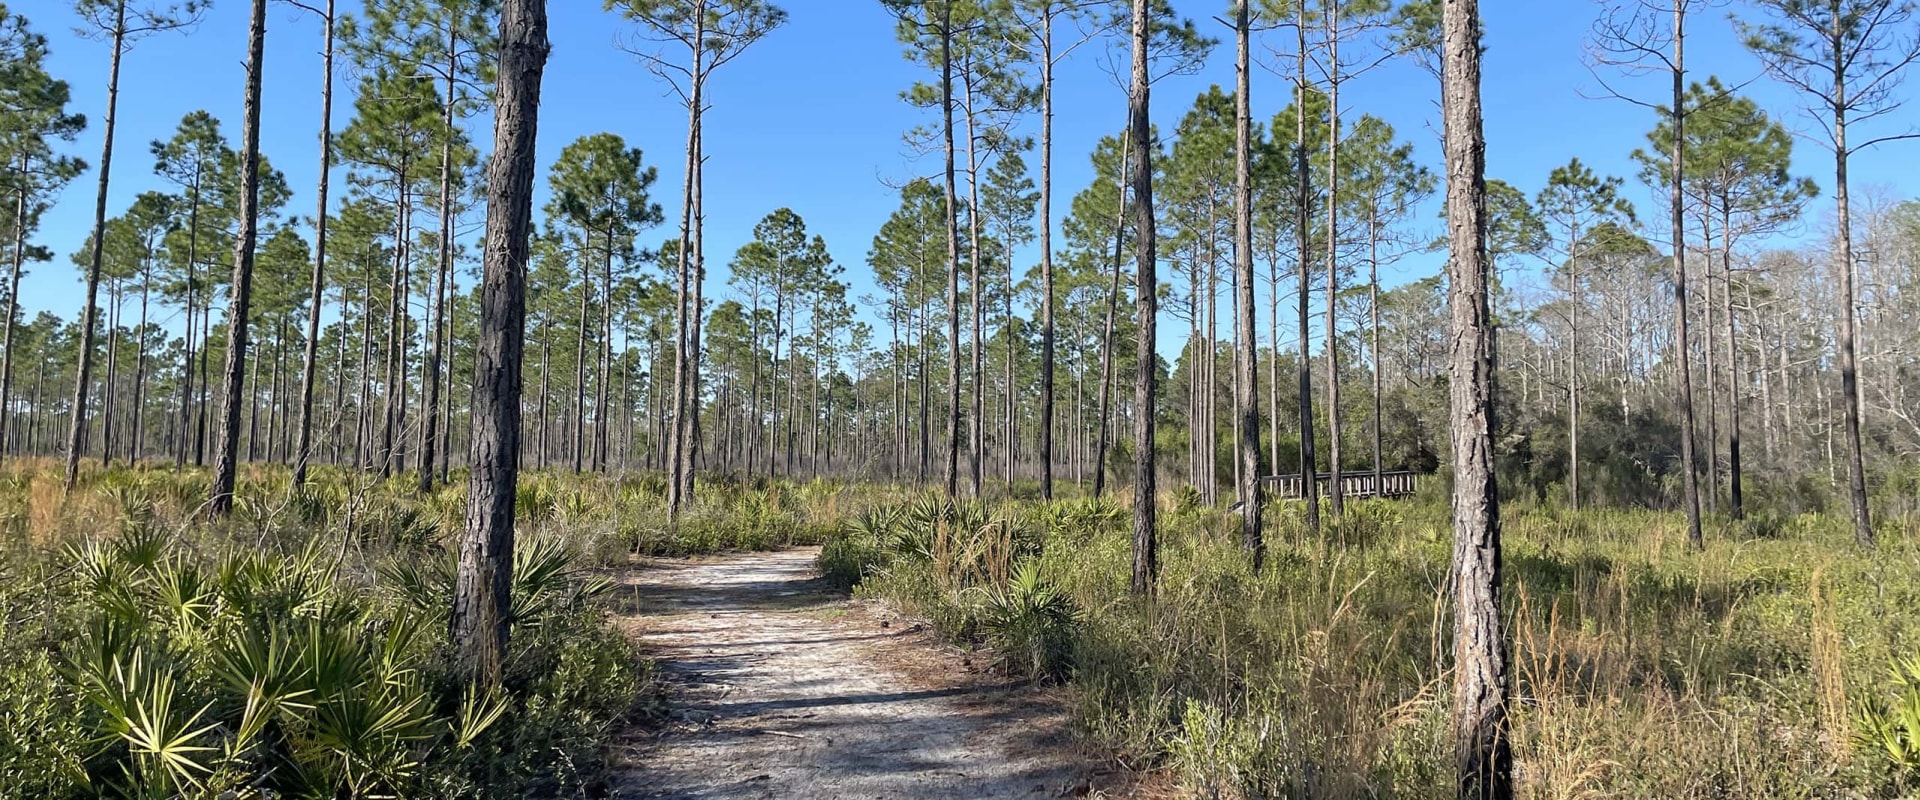
[[[357,0],[340,0],[351,12]],[[73,33],[75,17],[63,0],[13,0],[38,31],[52,38],[52,71],[73,84],[75,109],[92,127],[71,152],[98,167],[100,121],[106,106],[104,42]],[[246,56],[246,13],[240,0],[217,0],[205,21],[190,35],[165,35],[140,42],[125,61],[117,153],[113,163],[109,213],[121,213],[136,194],[167,188],[152,175],[148,142],[171,136],[179,119],[207,109],[225,121],[230,140],[238,140]],[[900,102],[899,94],[922,79],[920,67],[902,58],[895,42],[893,19],[876,0],[785,0],[789,25],[724,67],[710,84],[714,102],[707,117],[707,217],[712,292],[724,295],[724,263],[751,238],[753,224],[776,207],[793,207],[812,232],[828,240],[837,261],[847,267],[854,295],[872,292],[866,249],[874,232],[893,211],[899,184],[914,175],[931,175],[939,159],[916,157],[902,134],[927,117]],[[540,161],[547,165],[566,142],[611,130],[643,148],[659,167],[657,200],[666,219],[678,219],[682,146],[685,111],[666,86],[612,40],[624,29],[618,17],[601,12],[599,0],[551,0],[553,58],[547,65],[540,119]],[[1200,21],[1202,31],[1223,38],[1198,75],[1171,77],[1154,88],[1154,119],[1171,130],[1210,84],[1233,84],[1233,48],[1225,25],[1213,21],[1225,0],[1175,0],[1181,13]],[[1728,6],[1745,13],[1741,4]],[[1759,77],[1759,63],[1747,56],[1726,19],[1726,10],[1709,10],[1692,25],[1688,65],[1692,79],[1720,75],[1728,82]],[[1630,178],[1634,201],[1644,217],[1655,209],[1653,198],[1632,180],[1628,153],[1644,146],[1653,115],[1619,102],[1592,100],[1597,81],[1582,63],[1582,48],[1597,6],[1588,0],[1484,0],[1486,65],[1484,106],[1488,175],[1532,194],[1546,175],[1569,157],[1580,157],[1596,171]],[[261,148],[286,173],[296,194],[288,213],[311,215],[317,171],[319,127],[319,23],[275,4],[267,33],[267,75]],[[1256,44],[1290,46],[1290,36]],[[1119,129],[1125,94],[1102,69],[1102,46],[1083,48],[1058,75],[1056,117],[1056,217],[1066,200],[1091,176],[1087,153],[1094,140]],[[1657,98],[1659,81],[1622,81],[1632,92]],[[334,129],[351,111],[351,75],[336,81]],[[1271,117],[1286,104],[1283,77],[1256,69],[1256,119]],[[1390,63],[1342,88],[1348,113],[1373,113],[1392,123],[1411,140],[1419,159],[1434,173],[1438,161],[1436,82],[1413,63]],[[1761,79],[1747,94],[1797,130],[1814,130],[1799,111],[1799,100]],[[1903,109],[1876,121],[1876,132],[1914,127],[1920,113]],[[1037,130],[1039,123],[1029,121]],[[486,117],[472,121],[474,138],[490,142]],[[1857,190],[1878,186],[1893,196],[1910,196],[1914,176],[1907,165],[1912,146],[1893,144],[1855,157]],[[1039,169],[1035,155],[1029,165]],[[1828,192],[1814,205],[1826,215],[1832,201],[1832,159],[1801,142],[1795,173],[1822,180]],[[336,186],[342,173],[336,173]],[[56,261],[38,265],[23,282],[21,301],[29,315],[48,309],[71,317],[81,303],[79,274],[67,255],[79,249],[90,228],[94,175],[67,186],[36,236],[56,251]],[[541,178],[543,194],[545,182]],[[338,196],[338,192],[336,192]],[[543,198],[536,198],[536,203]],[[1438,230],[1438,205],[1423,211],[1419,223]],[[668,226],[643,238],[664,240]],[[1027,253],[1027,259],[1037,255]],[[1430,274],[1432,259],[1407,259],[1388,278],[1392,282]]]

